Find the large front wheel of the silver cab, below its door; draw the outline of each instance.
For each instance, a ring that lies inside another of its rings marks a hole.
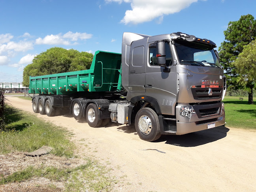
[[[161,136],[158,116],[148,107],[140,109],[136,114],[135,128],[139,138],[144,141],[155,141]]]

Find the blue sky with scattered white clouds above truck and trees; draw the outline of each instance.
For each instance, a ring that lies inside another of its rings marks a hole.
[[[123,32],[183,32],[220,46],[228,23],[247,14],[256,18],[255,0],[0,0],[0,82],[22,82],[51,47],[121,53]]]

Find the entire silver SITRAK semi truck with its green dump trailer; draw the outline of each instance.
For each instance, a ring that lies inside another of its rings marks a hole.
[[[124,32],[122,54],[96,51],[88,70],[30,77],[32,108],[48,116],[66,108],[91,127],[135,124],[145,141],[221,126],[226,77],[215,47],[181,32]]]

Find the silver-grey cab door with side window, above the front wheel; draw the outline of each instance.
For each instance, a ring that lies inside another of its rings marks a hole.
[[[164,72],[164,67],[157,64],[156,47],[149,47],[153,43],[147,44],[146,96],[150,96],[158,101],[162,114],[175,115],[177,80],[171,46],[169,42],[165,42],[166,66],[168,66],[170,72]]]

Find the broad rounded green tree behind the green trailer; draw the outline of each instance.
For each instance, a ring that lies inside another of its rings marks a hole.
[[[53,47],[35,56],[32,63],[23,70],[23,85],[29,86],[29,76],[49,75],[72,71],[87,70],[93,55],[74,49]]]

